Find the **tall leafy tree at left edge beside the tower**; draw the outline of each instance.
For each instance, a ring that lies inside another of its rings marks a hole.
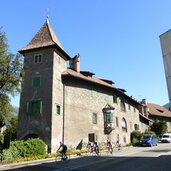
[[[0,28],[0,121],[12,112],[9,95],[21,91],[23,58],[9,51],[7,38]]]

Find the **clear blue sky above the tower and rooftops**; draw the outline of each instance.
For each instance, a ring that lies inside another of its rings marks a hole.
[[[50,25],[81,70],[115,82],[138,100],[166,104],[159,35],[171,29],[170,0],[2,0],[0,26],[16,53]],[[19,106],[19,96],[11,99]]]

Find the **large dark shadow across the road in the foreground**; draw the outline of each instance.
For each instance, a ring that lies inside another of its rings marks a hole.
[[[166,152],[165,150],[154,150]],[[167,150],[168,151],[168,150]],[[29,163],[20,168],[10,168],[10,171],[168,171],[171,156],[160,157],[116,157],[116,156],[81,156],[69,161],[54,159],[41,164]],[[20,164],[19,164],[20,165]],[[6,169],[4,169],[6,170]]]

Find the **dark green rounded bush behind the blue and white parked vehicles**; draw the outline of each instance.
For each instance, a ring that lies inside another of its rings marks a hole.
[[[151,131],[154,131],[157,136],[167,132],[167,123],[163,120],[155,120],[151,125]]]

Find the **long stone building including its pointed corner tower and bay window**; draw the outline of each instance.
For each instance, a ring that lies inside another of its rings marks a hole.
[[[19,52],[25,76],[18,139],[39,137],[54,152],[60,141],[72,147],[80,141],[128,144],[133,130],[148,129],[144,104],[112,81],[81,71],[80,55],[64,51],[48,21]]]

